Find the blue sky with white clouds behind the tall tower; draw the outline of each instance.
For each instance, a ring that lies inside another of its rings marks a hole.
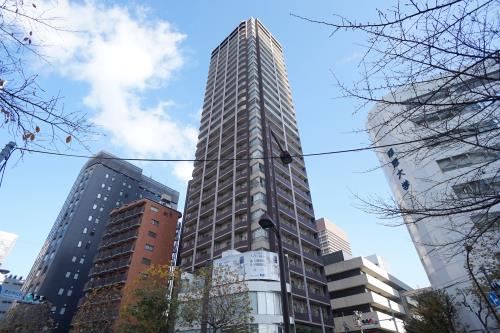
[[[389,1],[378,2],[390,6]],[[44,7],[45,6],[45,7]],[[236,25],[259,18],[284,47],[305,153],[369,144],[363,129],[367,110],[339,99],[332,73],[358,78],[363,36],[330,37],[327,27],[290,16],[331,20],[332,14],[368,20],[374,1],[149,1],[68,2],[38,6],[59,26],[78,33],[35,31],[51,47],[50,61],[33,63],[48,93],[64,97],[66,110],[84,112],[103,132],[91,151],[119,156],[187,158],[194,154],[210,52]],[[383,7],[382,7],[383,8]],[[43,128],[42,128],[43,131]],[[0,129],[0,143],[9,140]],[[73,152],[85,151],[73,145]],[[27,275],[85,160],[26,155],[9,162],[0,188],[0,229],[19,234],[5,267]],[[148,176],[181,192],[183,207],[189,165],[143,163]],[[349,235],[357,255],[377,253],[412,286],[428,285],[405,227],[363,212],[356,196],[390,198],[373,152],[306,159],[314,210]],[[399,222],[399,221],[393,221]]]

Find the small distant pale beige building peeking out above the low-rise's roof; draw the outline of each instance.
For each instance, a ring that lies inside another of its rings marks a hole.
[[[347,234],[337,225],[333,224],[327,218],[316,220],[316,230],[318,231],[319,246],[321,254],[344,251],[352,255],[351,244],[347,238]]]

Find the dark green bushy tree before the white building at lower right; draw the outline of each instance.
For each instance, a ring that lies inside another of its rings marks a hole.
[[[453,298],[445,291],[429,291],[416,296],[417,306],[412,309],[405,324],[407,333],[462,333],[457,324],[457,310]]]

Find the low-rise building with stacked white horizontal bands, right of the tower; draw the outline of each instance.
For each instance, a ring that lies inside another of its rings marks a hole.
[[[323,258],[335,332],[405,331],[400,293],[411,287],[388,273],[381,257],[338,251]]]

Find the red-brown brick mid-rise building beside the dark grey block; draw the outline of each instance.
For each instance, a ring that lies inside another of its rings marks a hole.
[[[123,289],[151,265],[164,265],[172,260],[177,248],[180,217],[178,211],[149,199],[140,199],[113,210],[84,288],[85,297],[94,290],[112,286],[115,291],[113,311],[108,311],[108,315],[116,319]],[[75,320],[82,320],[78,317],[82,318],[77,315]],[[98,316],[84,317],[98,319]]]

